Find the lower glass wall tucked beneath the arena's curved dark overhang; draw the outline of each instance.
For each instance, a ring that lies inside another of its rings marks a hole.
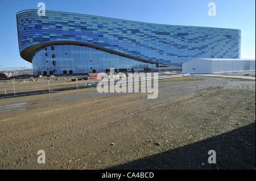
[[[136,61],[86,45],[51,44],[35,50],[34,75],[81,74],[115,71],[144,70],[155,64]]]

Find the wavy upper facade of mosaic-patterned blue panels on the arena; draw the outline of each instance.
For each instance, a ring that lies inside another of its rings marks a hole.
[[[50,45],[51,41],[96,45],[135,61],[166,65],[181,65],[193,58],[240,58],[241,54],[240,30],[142,23],[60,11],[38,16],[37,11],[23,10],[16,15],[19,51],[27,61],[38,57],[31,47]]]

